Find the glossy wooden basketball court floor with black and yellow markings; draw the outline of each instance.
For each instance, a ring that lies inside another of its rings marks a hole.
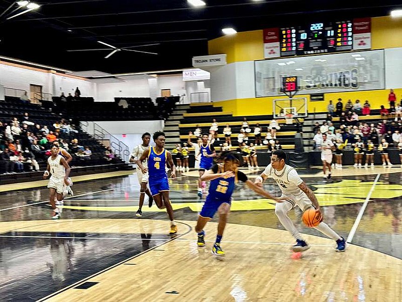
[[[248,171],[247,171],[248,172]],[[259,172],[248,173],[250,179]],[[222,246],[211,254],[194,232],[205,196],[196,171],[171,181],[177,236],[164,210],[143,207],[135,175],[75,182],[62,219],[50,219],[44,185],[0,196],[0,296],[5,300],[397,301],[402,296],[402,169],[344,168],[324,182],[319,167],[298,169],[324,209],[325,221],[350,244],[335,242],[289,212],[312,248],[299,255],[274,203],[238,185]],[[45,184],[45,183],[44,183]],[[279,194],[272,179],[264,189]],[[363,210],[363,207],[365,209]]]

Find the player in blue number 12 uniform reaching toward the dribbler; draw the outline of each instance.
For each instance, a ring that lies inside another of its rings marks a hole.
[[[273,199],[276,202],[282,202],[283,199],[277,198],[262,190],[260,187],[251,182],[243,172],[238,171],[237,168],[241,166],[241,157],[237,153],[225,151],[221,154],[220,160],[222,161],[222,164],[213,165],[210,170],[206,171],[203,176],[201,176],[201,180],[210,180],[211,184],[207,200],[204,203],[203,209],[199,213],[197,225],[195,226],[195,232],[198,234],[197,246],[204,247],[204,226],[218,211],[218,235],[212,248],[212,253],[217,256],[225,256],[225,252],[221,248],[221,239],[230,211],[232,193],[235,188],[235,183],[238,180],[246,183],[249,188],[254,190],[256,193],[265,196],[266,198]]]

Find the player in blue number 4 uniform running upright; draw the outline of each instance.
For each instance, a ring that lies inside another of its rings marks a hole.
[[[153,135],[155,147],[149,147],[144,150],[144,153],[137,162],[138,167],[142,173],[149,175],[148,184],[151,190],[152,197],[158,208],[166,208],[167,214],[170,218],[170,235],[177,233],[177,226],[174,222],[173,209],[169,200],[169,182],[166,173],[166,163],[172,170],[170,177],[176,177],[176,167],[174,166],[172,155],[165,146],[165,133],[157,131]],[[142,163],[148,160],[148,169],[144,168]]]

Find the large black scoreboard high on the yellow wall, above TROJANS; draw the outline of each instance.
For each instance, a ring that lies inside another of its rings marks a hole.
[[[353,49],[351,21],[281,28],[280,55],[306,55]]]

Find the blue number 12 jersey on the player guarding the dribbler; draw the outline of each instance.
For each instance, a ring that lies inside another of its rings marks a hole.
[[[214,166],[215,167],[215,166]],[[224,165],[218,164],[218,172],[223,173]],[[212,200],[230,200],[233,190],[235,189],[235,183],[237,183],[237,171],[235,177],[217,178],[211,180],[210,189],[208,191],[208,198]]]

